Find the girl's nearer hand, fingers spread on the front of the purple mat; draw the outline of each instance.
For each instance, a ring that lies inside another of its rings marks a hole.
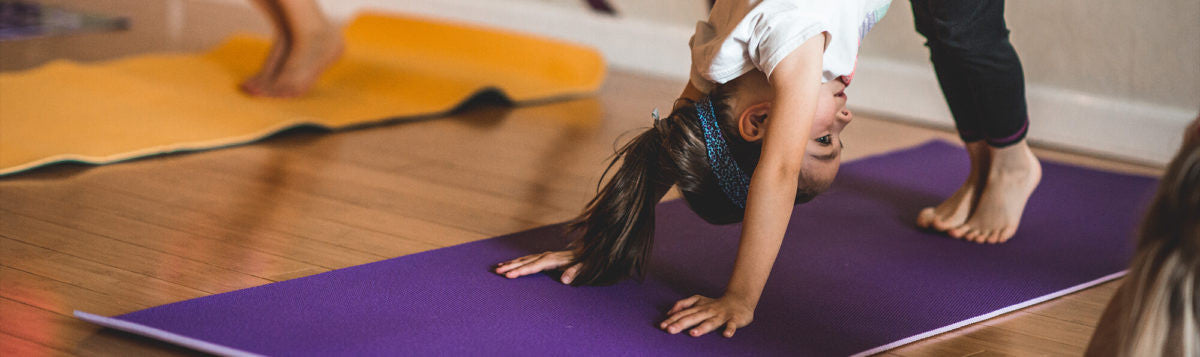
[[[733,337],[738,327],[750,325],[754,320],[754,305],[730,297],[714,299],[694,295],[677,302],[667,315],[670,316],[659,323],[659,328],[671,334],[696,326],[688,334],[700,337],[724,325],[725,337]]]

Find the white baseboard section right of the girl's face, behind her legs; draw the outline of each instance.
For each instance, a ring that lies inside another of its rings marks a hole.
[[[852,107],[953,128],[930,65],[859,59]],[[1118,159],[1165,165],[1196,113],[1165,105],[1026,84],[1031,141]]]

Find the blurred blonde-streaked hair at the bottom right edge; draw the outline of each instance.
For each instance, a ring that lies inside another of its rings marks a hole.
[[[1187,141],[1142,223],[1138,254],[1110,303],[1116,315],[1102,321],[1114,323],[1115,349],[1097,352],[1200,356],[1200,137]]]

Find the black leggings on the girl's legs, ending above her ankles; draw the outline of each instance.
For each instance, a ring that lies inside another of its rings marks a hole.
[[[1004,147],[1025,139],[1025,74],[1008,42],[1004,0],[911,0],[959,137]]]

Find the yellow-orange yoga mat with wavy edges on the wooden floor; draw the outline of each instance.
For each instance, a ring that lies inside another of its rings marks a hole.
[[[604,59],[582,46],[430,19],[362,14],[344,38],[341,60],[298,98],[238,90],[270,46],[247,36],[205,54],[0,73],[0,175],[244,144],[304,125],[428,116],[487,90],[517,103],[578,96],[605,75]]]

